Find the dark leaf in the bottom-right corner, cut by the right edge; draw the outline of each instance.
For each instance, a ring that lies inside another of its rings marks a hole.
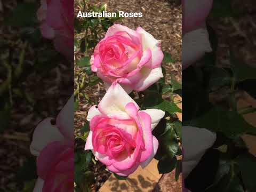
[[[235,159],[235,162],[241,169],[242,178],[246,189],[248,191],[256,191],[256,157],[249,153],[241,154]]]

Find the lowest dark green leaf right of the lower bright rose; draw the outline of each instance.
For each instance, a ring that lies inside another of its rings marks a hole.
[[[160,174],[170,173],[174,170],[177,163],[177,158],[170,158],[168,156],[164,156],[157,164],[158,172]]]

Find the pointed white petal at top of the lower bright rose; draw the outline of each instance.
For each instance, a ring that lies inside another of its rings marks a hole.
[[[100,101],[98,109],[102,114],[109,117],[128,119],[130,117],[125,111],[125,106],[129,102],[133,102],[139,109],[137,103],[124,91],[122,86],[118,83],[113,83]]]

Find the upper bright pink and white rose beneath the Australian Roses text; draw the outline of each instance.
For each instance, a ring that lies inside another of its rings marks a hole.
[[[95,47],[91,69],[105,82],[106,89],[118,82],[128,93],[144,91],[163,77],[163,57],[160,41],[141,27],[135,31],[113,25]]]

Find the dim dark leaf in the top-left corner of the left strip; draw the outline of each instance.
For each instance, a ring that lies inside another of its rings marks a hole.
[[[35,26],[38,22],[37,9],[36,3],[18,4],[7,19],[7,25],[15,27]]]

